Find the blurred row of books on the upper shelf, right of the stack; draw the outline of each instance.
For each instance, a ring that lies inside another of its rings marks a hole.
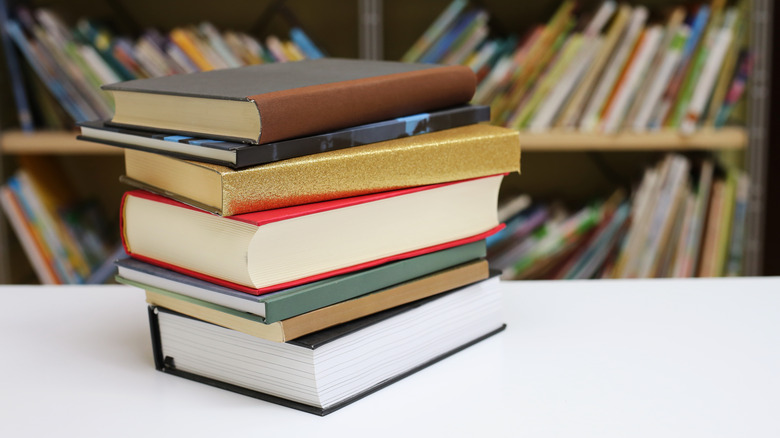
[[[678,6],[656,17],[604,1],[564,1],[524,36],[495,36],[489,10],[453,0],[404,55],[478,74],[474,103],[521,130],[614,133],[721,127],[741,101],[752,56],[746,2]]]

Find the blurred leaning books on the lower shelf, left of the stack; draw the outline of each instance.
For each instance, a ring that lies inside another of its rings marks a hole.
[[[101,205],[80,199],[49,157],[23,156],[0,205],[43,284],[100,284],[123,252]]]

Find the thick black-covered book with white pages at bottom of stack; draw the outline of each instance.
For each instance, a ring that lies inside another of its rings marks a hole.
[[[152,303],[158,370],[326,415],[504,329],[499,278],[274,342]]]

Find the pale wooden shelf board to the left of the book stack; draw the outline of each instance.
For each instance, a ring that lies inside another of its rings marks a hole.
[[[76,140],[75,131],[38,131],[26,133],[18,130],[0,132],[0,151],[10,155],[120,155],[121,148],[88,141]]]

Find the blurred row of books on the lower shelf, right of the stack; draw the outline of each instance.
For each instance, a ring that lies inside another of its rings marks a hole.
[[[711,159],[669,155],[631,196],[576,212],[520,197],[520,211],[488,238],[488,260],[506,279],[739,276],[748,184]]]

